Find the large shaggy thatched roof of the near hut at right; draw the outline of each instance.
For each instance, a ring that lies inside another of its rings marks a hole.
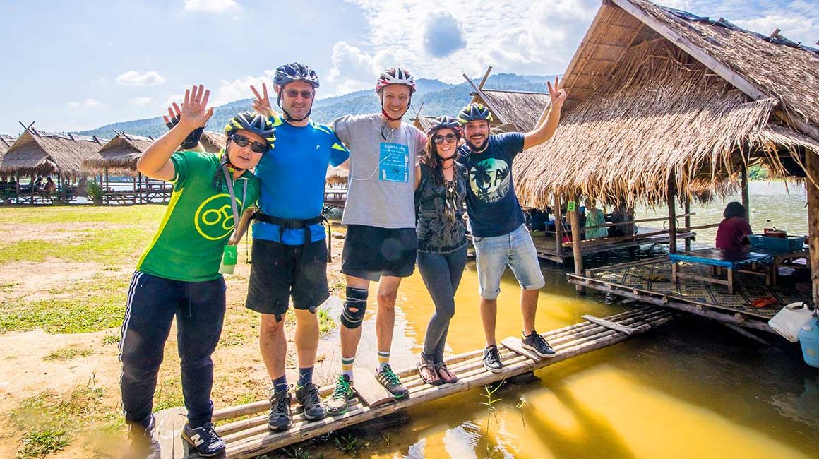
[[[781,122],[804,115],[819,126],[819,57],[686,15],[645,0],[604,2],[564,74],[558,132],[515,166],[525,206],[544,207],[558,188],[656,204],[671,179],[689,196],[718,193],[751,153],[783,172],[781,154],[819,152],[819,140]],[[773,74],[776,84],[765,80]],[[738,83],[744,76],[764,92]]]

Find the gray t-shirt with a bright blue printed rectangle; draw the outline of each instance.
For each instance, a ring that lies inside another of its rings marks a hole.
[[[344,225],[415,228],[415,163],[427,136],[413,125],[392,130],[380,113],[333,121],[350,148]]]

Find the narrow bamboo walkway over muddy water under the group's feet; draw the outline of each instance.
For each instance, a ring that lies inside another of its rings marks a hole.
[[[213,421],[223,422],[216,428],[216,431],[227,443],[226,457],[256,457],[274,449],[328,434],[333,430],[373,420],[454,393],[523,375],[559,361],[612,346],[625,341],[632,335],[642,334],[659,325],[664,325],[673,320],[674,315],[670,311],[657,307],[640,307],[605,318],[595,316],[583,316],[583,318],[586,320],[581,323],[542,334],[557,351],[552,358],[541,359],[527,352],[520,347],[518,338],[504,339],[499,347],[504,361],[504,370],[498,374],[484,370],[482,349],[480,349],[446,360],[447,365],[459,376],[459,381],[455,384],[431,386],[421,381],[418,370],[415,368],[399,371],[398,375],[409,389],[409,398],[400,401],[390,398],[390,401],[384,404],[379,404],[378,400],[375,400],[368,405],[362,401],[362,398],[372,399],[372,394],[363,394],[364,390],[362,390],[362,393],[357,393],[357,397],[351,399],[349,411],[343,416],[328,416],[318,421],[305,420],[301,412],[296,412],[297,405],[294,405],[293,425],[289,430],[281,433],[273,433],[267,428],[267,415],[270,407],[268,400],[216,410],[213,414]],[[373,389],[373,386],[367,383],[374,382],[374,379],[366,380],[372,378],[372,375],[368,375],[361,369],[356,369],[355,372],[356,384]],[[359,389],[361,388],[356,391]],[[319,393],[322,397],[327,397],[332,391],[333,386],[328,385],[321,388]],[[156,413],[157,435],[162,446],[163,459],[188,457],[187,445],[179,437],[179,431],[185,422],[185,417],[180,416],[183,413],[184,408],[170,408]],[[229,422],[224,423],[224,421]],[[194,452],[190,457],[198,457],[198,455]]]

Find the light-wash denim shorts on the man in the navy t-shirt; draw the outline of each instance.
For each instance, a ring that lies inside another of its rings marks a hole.
[[[478,292],[481,298],[493,300],[500,294],[500,276],[506,265],[512,268],[518,284],[526,290],[541,289],[545,285],[541,263],[526,225],[511,233],[489,238],[473,237],[477,263]]]

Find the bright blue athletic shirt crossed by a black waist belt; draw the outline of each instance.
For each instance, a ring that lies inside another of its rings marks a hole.
[[[256,166],[261,181],[258,206],[269,216],[286,220],[307,220],[321,215],[324,209],[324,181],[327,166],[338,166],[350,157],[336,137],[333,128],[314,121],[306,126],[294,126],[281,116],[270,118],[276,126],[274,148]],[[279,225],[256,221],[253,238],[279,242]],[[284,230],[285,245],[305,242],[305,230]],[[324,225],[310,226],[310,241],[324,239]]]

